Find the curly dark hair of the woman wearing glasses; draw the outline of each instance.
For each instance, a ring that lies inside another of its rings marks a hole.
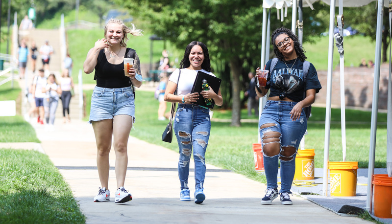
[[[301,60],[302,62],[305,61],[307,59],[307,57],[305,56],[306,51],[299,44],[298,37],[293,33],[293,31],[291,29],[285,28],[284,26],[281,28],[275,29],[275,31],[273,31],[273,33],[271,35],[271,44],[273,45],[273,52],[275,52],[276,57],[281,61],[286,61],[282,52],[279,51],[278,46],[276,46],[276,44],[275,44],[276,37],[278,37],[280,34],[284,34],[284,33],[287,34],[287,36],[289,36],[290,39],[293,40],[294,50],[297,53],[299,60]]]

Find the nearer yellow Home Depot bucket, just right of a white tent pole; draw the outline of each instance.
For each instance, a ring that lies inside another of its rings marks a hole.
[[[358,162],[329,162],[331,196],[351,197],[357,194]]]

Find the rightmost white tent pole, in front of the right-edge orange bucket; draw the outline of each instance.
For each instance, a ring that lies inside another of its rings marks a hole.
[[[380,67],[381,67],[381,39],[384,17],[384,0],[378,0],[377,9],[377,32],[376,32],[376,53],[374,58],[374,79],[373,79],[373,101],[371,105],[371,124],[370,124],[370,148],[368,166],[368,192],[366,209],[371,214],[371,202],[373,199],[373,174],[374,174],[374,155],[376,150],[377,132],[377,112],[378,112],[378,88],[380,86]]]

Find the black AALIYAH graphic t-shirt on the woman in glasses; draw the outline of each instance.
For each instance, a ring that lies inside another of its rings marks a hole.
[[[266,70],[270,70],[271,60],[267,62]],[[304,99],[304,91],[316,89],[316,93],[319,92],[321,84],[316,68],[312,64],[310,64],[305,82],[301,60],[297,58],[296,61],[295,59],[286,61],[286,64],[278,60],[274,69],[270,70],[268,74],[266,89],[270,89],[270,97],[286,96],[295,102],[299,102]]]

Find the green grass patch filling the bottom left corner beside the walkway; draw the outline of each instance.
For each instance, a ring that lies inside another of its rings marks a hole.
[[[69,185],[49,157],[0,149],[0,223],[85,223]]]

